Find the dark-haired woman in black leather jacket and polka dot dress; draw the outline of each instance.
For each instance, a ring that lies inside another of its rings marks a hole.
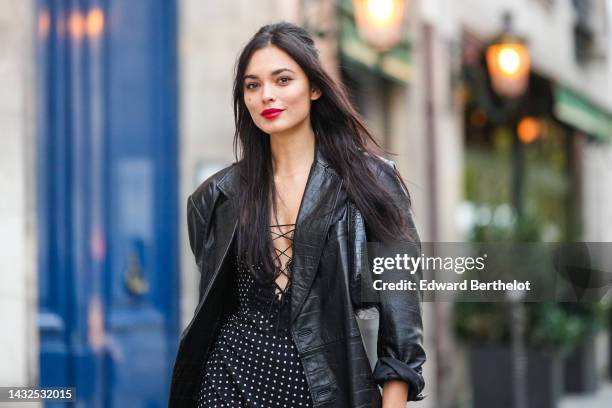
[[[235,74],[240,160],[187,202],[200,301],[181,336],[170,406],[422,399],[418,293],[363,296],[367,240],[420,247],[395,166],[371,150],[374,139],[305,30],[262,27]],[[365,308],[380,313],[373,372],[355,318]]]

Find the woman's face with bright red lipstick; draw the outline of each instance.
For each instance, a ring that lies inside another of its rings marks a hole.
[[[251,56],[244,76],[244,103],[265,133],[309,124],[310,103],[320,96],[302,68],[280,48],[269,45]]]

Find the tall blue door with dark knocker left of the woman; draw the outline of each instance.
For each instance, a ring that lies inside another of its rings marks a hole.
[[[39,0],[37,14],[40,385],[76,387],[76,406],[166,406],[175,2]]]

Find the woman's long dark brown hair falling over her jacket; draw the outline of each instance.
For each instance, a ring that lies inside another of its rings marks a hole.
[[[257,31],[240,53],[235,68],[234,153],[236,160],[239,160],[240,179],[243,183],[238,198],[240,253],[249,263],[259,260],[264,263],[265,270],[273,270],[268,226],[270,200],[274,207],[276,200],[272,198],[276,191],[270,138],[255,125],[249,114],[244,102],[243,79],[253,53],[269,45],[291,56],[305,72],[311,87],[321,91],[320,98],[312,102],[310,110],[317,148],[342,177],[349,198],[366,221],[370,234],[368,238],[372,241],[407,238],[403,228],[406,220],[393,204],[390,193],[380,186],[371,165],[367,163],[368,160],[380,160],[376,153],[382,152],[382,148],[351,105],[344,87],[323,69],[318,50],[308,32],[294,24],[280,22],[263,26]],[[399,177],[399,173],[395,174]]]

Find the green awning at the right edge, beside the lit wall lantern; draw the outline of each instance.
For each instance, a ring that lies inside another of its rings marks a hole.
[[[555,115],[595,139],[612,141],[612,114],[563,86],[555,88]]]

